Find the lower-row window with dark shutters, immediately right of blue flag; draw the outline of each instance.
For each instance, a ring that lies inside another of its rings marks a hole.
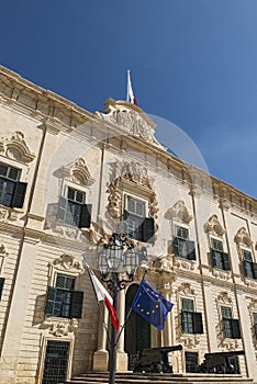
[[[202,314],[194,312],[193,301],[182,298],[181,323],[183,334],[203,334]]]

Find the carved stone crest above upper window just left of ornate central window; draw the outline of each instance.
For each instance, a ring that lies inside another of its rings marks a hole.
[[[94,182],[82,158],[64,166],[56,172],[56,176],[81,187],[89,187]]]

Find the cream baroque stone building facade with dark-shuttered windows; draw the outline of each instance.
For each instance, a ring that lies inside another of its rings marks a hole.
[[[2,384],[108,370],[83,259],[96,269],[116,230],[148,255],[120,294],[121,325],[144,271],[175,304],[163,331],[132,314],[118,370],[144,347],[181,343],[175,372],[244,349],[241,373],[257,382],[255,199],[167,151],[138,106],[109,99],[92,114],[3,67],[0,132]]]

